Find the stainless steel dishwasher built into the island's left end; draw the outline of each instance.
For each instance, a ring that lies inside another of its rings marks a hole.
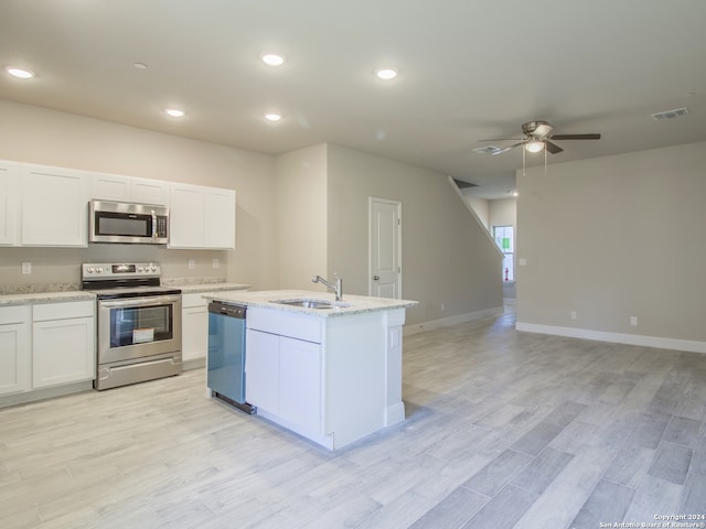
[[[211,395],[255,413],[245,401],[245,322],[247,309],[220,301],[208,303],[206,385]]]

